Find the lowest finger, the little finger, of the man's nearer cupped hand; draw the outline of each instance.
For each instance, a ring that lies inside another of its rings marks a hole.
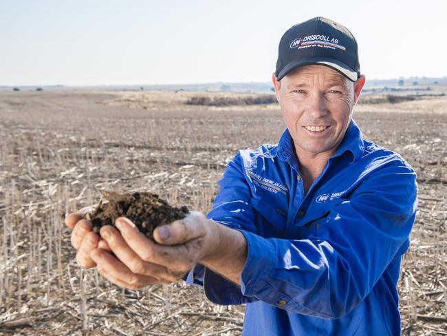
[[[120,260],[102,249],[91,251],[91,258],[96,262],[98,272],[118,286],[138,289],[157,282],[154,277],[133,273]]]

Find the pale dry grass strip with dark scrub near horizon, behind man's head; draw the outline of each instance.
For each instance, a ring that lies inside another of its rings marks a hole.
[[[397,87],[397,89],[402,89]],[[415,90],[414,87],[407,87]],[[424,88],[426,89],[426,88]],[[421,112],[421,113],[447,113],[447,96],[415,97],[417,91],[404,93],[384,92],[382,94],[364,94],[360,98],[356,111],[361,112]],[[420,94],[426,94],[420,91]],[[429,94],[447,94],[447,87],[433,87]],[[406,96],[407,94],[411,96]],[[265,99],[268,97],[268,99]],[[102,104],[111,107],[128,107],[132,109],[149,109],[153,111],[171,109],[179,111],[244,111],[253,110],[279,110],[276,101],[268,103],[272,94],[252,94],[240,92],[114,92],[111,98],[102,101]],[[254,104],[265,100],[265,104]],[[190,102],[199,101],[197,104]],[[201,103],[200,103],[201,102]],[[236,106],[235,106],[236,105]],[[257,105],[257,106],[252,106]]]

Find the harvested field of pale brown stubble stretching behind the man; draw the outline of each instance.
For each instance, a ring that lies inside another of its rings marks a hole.
[[[243,306],[182,282],[127,291],[76,266],[63,214],[105,190],[206,212],[237,149],[276,143],[276,105],[186,105],[210,93],[0,92],[0,333],[239,335]],[[416,169],[399,283],[402,333],[447,334],[447,98],[359,105],[365,138]]]

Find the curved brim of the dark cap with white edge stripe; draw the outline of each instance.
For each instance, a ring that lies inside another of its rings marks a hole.
[[[348,78],[349,81],[355,82],[358,79],[358,73],[356,72],[356,70],[353,70],[345,63],[342,63],[335,59],[327,59],[324,57],[305,57],[303,59],[296,59],[285,65],[285,67],[283,67],[283,70],[281,70],[281,72],[279,72],[279,74],[276,76],[276,79],[278,81],[281,81],[281,78],[295,70],[297,67],[302,67],[303,65],[310,64],[321,64],[326,65],[327,67],[331,67],[332,69],[340,72],[340,74]]]

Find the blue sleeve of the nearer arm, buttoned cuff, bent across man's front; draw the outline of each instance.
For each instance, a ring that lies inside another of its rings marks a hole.
[[[294,313],[340,318],[406,249],[416,208],[415,172],[402,163],[373,171],[314,223],[318,229],[309,239],[241,230],[248,244],[241,293]]]

